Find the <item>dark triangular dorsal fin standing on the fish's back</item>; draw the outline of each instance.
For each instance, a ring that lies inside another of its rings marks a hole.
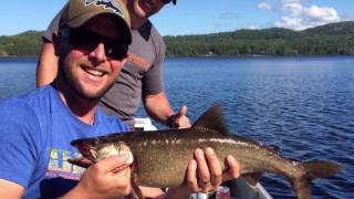
[[[218,104],[215,104],[208,111],[206,111],[197,119],[197,122],[192,125],[191,128],[209,128],[209,129],[219,132],[221,134],[227,134],[227,135],[230,134],[225,123],[221,107]]]

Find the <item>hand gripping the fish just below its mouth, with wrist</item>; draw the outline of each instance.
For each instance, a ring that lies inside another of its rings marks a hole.
[[[131,192],[129,155],[115,155],[91,165],[63,198],[113,198]]]

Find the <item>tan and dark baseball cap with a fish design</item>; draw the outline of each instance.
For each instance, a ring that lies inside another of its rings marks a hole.
[[[126,44],[132,43],[131,18],[125,3],[121,0],[70,0],[65,6],[59,28],[67,25],[76,29],[98,14],[111,14],[117,19]]]

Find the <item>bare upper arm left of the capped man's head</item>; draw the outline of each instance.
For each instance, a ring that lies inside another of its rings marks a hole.
[[[58,73],[58,56],[53,43],[45,40],[40,52],[37,65],[37,87],[51,83]]]

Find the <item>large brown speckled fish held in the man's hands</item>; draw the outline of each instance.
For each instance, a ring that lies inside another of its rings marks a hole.
[[[231,134],[218,104],[205,112],[190,128],[115,133],[75,139],[71,144],[93,163],[111,155],[132,153],[132,180],[146,187],[183,185],[194,150],[207,147],[215,150],[223,170],[227,169],[226,156],[232,155],[240,165],[240,175],[251,185],[256,185],[266,172],[284,176],[299,199],[311,198],[313,179],[343,169],[341,164],[330,160],[287,158],[275,146]]]

